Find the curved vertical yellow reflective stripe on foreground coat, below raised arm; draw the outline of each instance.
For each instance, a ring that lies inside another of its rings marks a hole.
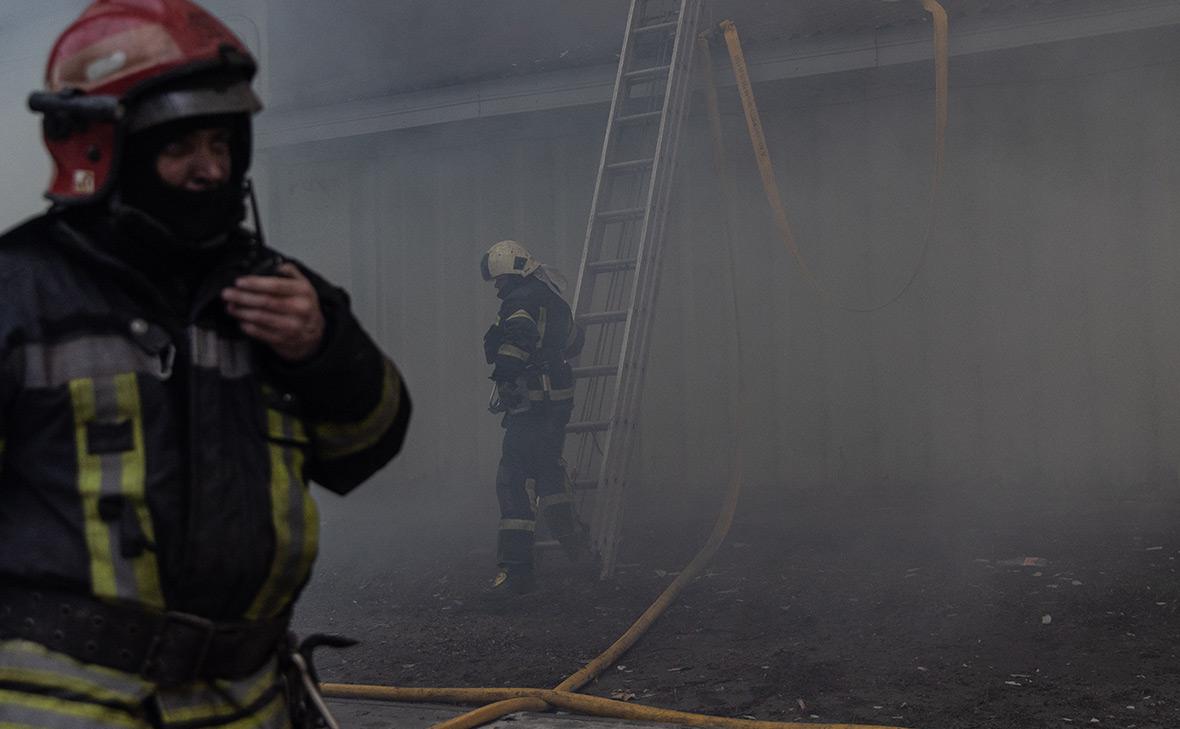
[[[294,438],[302,427],[277,411],[267,411],[268,431]],[[303,452],[287,442],[271,442],[270,517],[275,530],[270,574],[247,610],[249,619],[282,612],[312,571],[320,541],[320,515],[303,482]]]

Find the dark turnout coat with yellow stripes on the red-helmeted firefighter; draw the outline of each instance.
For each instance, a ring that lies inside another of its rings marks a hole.
[[[401,447],[394,364],[314,272],[321,350],[288,364],[221,289],[188,295],[111,255],[110,225],[33,218],[0,238],[0,582],[211,619],[289,611],[316,554],[308,482],[345,493]]]

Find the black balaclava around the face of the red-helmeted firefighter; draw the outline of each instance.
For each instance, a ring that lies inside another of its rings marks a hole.
[[[196,130],[219,126],[231,132],[231,169],[224,185],[191,191],[160,179],[156,158],[169,143]],[[190,117],[136,132],[127,137],[124,146],[118,204],[150,217],[184,250],[218,248],[245,217],[249,139],[250,117],[245,113]]]

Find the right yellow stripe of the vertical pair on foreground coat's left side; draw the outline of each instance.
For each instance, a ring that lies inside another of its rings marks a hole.
[[[146,537],[148,543],[156,544],[156,530],[152,526],[151,512],[148,508],[145,466],[143,403],[139,400],[139,381],[132,373],[114,377],[114,394],[119,415],[131,420],[131,438],[133,447],[122,454],[123,468],[119,487],[127,506],[135,508],[136,521]],[[164,591],[159,585],[159,567],[156,564],[156,552],[145,549],[132,560],[138,585],[137,597],[152,608],[164,606]]]

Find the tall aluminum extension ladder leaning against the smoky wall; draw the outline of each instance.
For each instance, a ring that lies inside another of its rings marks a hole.
[[[586,340],[573,368],[565,460],[578,507],[594,506],[590,539],[602,577],[615,570],[702,4],[631,1],[573,295]]]

